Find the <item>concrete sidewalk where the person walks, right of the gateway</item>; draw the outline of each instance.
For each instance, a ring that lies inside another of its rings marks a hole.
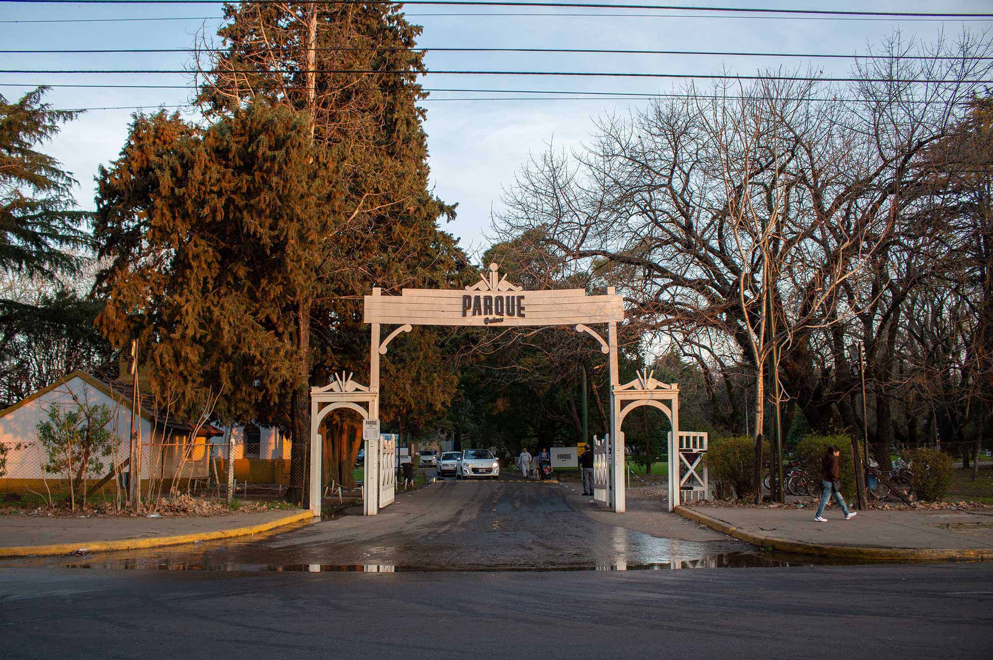
[[[859,511],[832,508],[818,523],[805,509],[677,506],[685,518],[769,550],[892,560],[993,559],[993,511]]]

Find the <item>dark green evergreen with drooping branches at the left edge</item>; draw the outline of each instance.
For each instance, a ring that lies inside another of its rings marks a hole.
[[[13,103],[0,94],[0,268],[51,276],[75,265],[63,248],[83,244],[87,213],[76,208],[71,174],[37,150],[78,115],[44,103],[46,91]]]

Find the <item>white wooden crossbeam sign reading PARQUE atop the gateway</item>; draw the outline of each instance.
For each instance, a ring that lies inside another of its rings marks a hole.
[[[616,294],[588,296],[584,289],[523,291],[500,277],[457,289],[403,289],[399,296],[364,299],[365,323],[412,326],[575,326],[624,320]]]

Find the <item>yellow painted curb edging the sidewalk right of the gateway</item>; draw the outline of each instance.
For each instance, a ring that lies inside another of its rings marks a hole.
[[[897,560],[897,561],[949,561],[949,560],[989,560],[993,559],[993,548],[872,548],[864,546],[835,546],[824,543],[802,543],[786,541],[767,534],[755,534],[739,529],[718,518],[688,509],[675,507],[675,512],[683,518],[706,525],[713,530],[727,534],[739,541],[751,543],[764,550],[817,557],[839,557],[844,559]]]

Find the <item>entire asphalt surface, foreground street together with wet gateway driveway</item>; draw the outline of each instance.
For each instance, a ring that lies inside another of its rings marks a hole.
[[[6,561],[0,658],[993,655],[989,564],[812,566],[613,515],[444,482],[259,539]]]

